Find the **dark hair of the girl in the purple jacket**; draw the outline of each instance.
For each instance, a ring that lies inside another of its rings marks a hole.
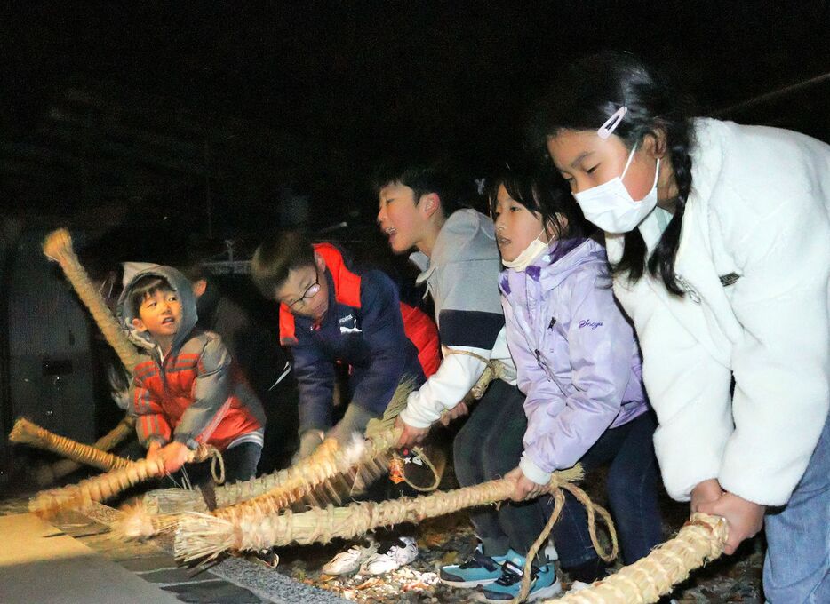
[[[549,168],[539,168],[523,160],[504,164],[487,179],[490,215],[498,203],[499,187],[525,208],[539,215],[557,240],[585,236],[594,230],[579,210],[562,177]]]

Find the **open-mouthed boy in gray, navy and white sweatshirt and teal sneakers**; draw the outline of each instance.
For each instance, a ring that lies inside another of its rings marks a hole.
[[[421,271],[417,282],[427,282],[435,303],[443,353],[441,367],[409,395],[398,417],[403,428],[399,445],[409,448],[423,441],[439,419],[467,415],[467,393],[488,366],[499,368],[499,378],[453,442],[459,483],[468,486],[503,476],[518,465],[527,419],[507,349],[493,224],[475,210],[456,209],[460,195],[454,182],[440,163],[413,163],[388,166],[374,185],[378,224],[390,248],[396,254],[416,250],[410,259]],[[474,587],[501,580],[508,567],[523,563],[524,544],[539,536],[546,516],[538,502],[510,503],[499,511],[477,511],[471,520],[482,544],[464,564],[442,569],[444,583]],[[540,554],[535,566],[547,563]]]

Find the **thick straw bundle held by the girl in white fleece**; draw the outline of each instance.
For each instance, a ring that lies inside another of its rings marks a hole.
[[[544,604],[627,604],[656,602],[689,577],[690,571],[714,560],[726,545],[726,521],[693,513],[674,539],[659,545],[634,564],[590,587]]]

